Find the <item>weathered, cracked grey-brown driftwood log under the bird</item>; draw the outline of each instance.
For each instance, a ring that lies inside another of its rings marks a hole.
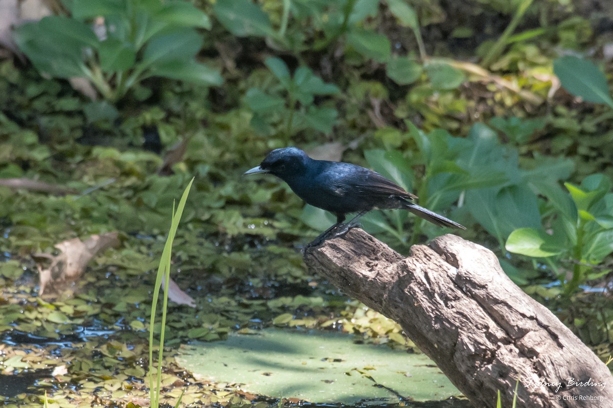
[[[445,235],[403,257],[362,230],[305,252],[307,266],[400,323],[478,408],[611,408],[606,365],[543,305],[522,292],[496,256]]]

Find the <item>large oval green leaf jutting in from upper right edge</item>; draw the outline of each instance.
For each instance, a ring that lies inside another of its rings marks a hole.
[[[607,104],[613,108],[607,79],[592,62],[576,56],[563,56],[555,59],[554,74],[569,93],[581,96],[588,102]]]

